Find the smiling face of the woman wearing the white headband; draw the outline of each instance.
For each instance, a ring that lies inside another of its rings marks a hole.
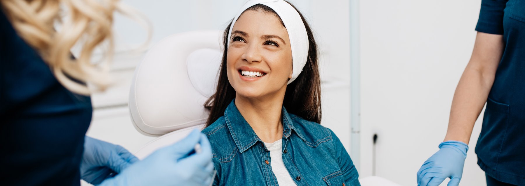
[[[237,95],[284,95],[292,74],[292,52],[288,32],[279,18],[245,11],[235,22],[229,40],[226,69]]]

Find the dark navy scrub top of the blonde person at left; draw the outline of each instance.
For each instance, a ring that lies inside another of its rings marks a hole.
[[[80,185],[89,97],[59,84],[0,8],[0,185]]]

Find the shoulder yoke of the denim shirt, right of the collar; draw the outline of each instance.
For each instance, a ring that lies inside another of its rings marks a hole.
[[[289,115],[299,137],[301,137],[308,146],[317,147],[323,142],[332,141],[332,138],[335,137],[335,134],[330,129],[317,122],[305,120],[295,114]]]

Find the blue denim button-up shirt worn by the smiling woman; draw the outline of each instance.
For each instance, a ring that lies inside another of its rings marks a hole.
[[[213,149],[213,185],[278,185],[269,150],[234,101],[202,131]],[[282,125],[282,161],[297,185],[360,185],[350,156],[330,129],[284,107]]]

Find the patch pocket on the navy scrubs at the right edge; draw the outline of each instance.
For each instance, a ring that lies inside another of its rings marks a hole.
[[[509,105],[487,99],[476,154],[487,166],[496,168],[509,123]]]

